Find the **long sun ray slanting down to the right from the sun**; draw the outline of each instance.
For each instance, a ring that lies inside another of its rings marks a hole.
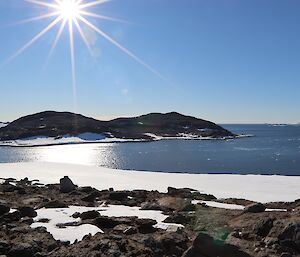
[[[167,81],[167,79],[164,78],[164,76],[162,76],[157,70],[155,70],[154,68],[152,68],[149,64],[145,63],[142,59],[140,59],[139,57],[137,57],[134,53],[132,53],[127,48],[125,48],[124,46],[122,46],[120,43],[118,43],[112,37],[110,37],[109,35],[107,35],[105,32],[103,32],[102,30],[100,30],[99,28],[97,28],[94,24],[92,24],[91,22],[89,22],[87,19],[85,19],[82,16],[79,16],[78,19],[80,19],[83,23],[85,23],[87,26],[89,26],[91,29],[93,29],[95,32],[97,32],[99,35],[101,35],[102,37],[104,37],[110,43],[112,43],[113,45],[115,45],[116,47],[118,47],[120,50],[122,50],[124,53],[126,53],[128,56],[130,56],[136,62],[138,62],[139,64],[143,65],[145,68],[147,68],[149,71],[151,71],[152,73],[154,73],[155,75],[157,75],[161,79]]]

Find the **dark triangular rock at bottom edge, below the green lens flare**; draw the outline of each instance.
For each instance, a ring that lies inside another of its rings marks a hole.
[[[193,245],[182,257],[251,257],[241,251],[237,246],[226,244],[220,240],[214,240],[209,235],[200,233]]]

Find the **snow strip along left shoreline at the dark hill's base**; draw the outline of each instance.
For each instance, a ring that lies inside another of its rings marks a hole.
[[[0,141],[0,146],[43,146],[43,145],[61,145],[61,144],[82,144],[82,143],[118,143],[143,141],[136,139],[123,139],[107,137],[105,134],[82,133],[77,136],[65,135],[60,138],[36,136],[24,139]]]

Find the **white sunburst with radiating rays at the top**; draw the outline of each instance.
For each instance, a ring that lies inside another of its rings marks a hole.
[[[116,19],[113,17],[101,15],[98,13],[94,13],[91,11],[91,8],[96,7],[98,5],[105,4],[110,0],[24,0],[27,3],[37,5],[40,7],[44,7],[47,12],[43,15],[33,17],[19,23],[29,23],[29,22],[36,22],[44,19],[51,19],[49,24],[42,29],[38,34],[36,34],[31,40],[29,40],[26,44],[24,44],[19,50],[17,50],[6,62],[11,61],[12,59],[16,58],[18,55],[23,53],[29,47],[31,47],[36,41],[38,41],[42,36],[44,36],[47,32],[53,29],[56,26],[59,26],[55,40],[52,44],[50,55],[55,49],[63,31],[65,29],[68,30],[69,33],[69,44],[70,44],[70,59],[71,59],[71,70],[72,70],[72,86],[73,92],[76,89],[76,73],[75,73],[75,42],[74,42],[74,31],[75,29],[80,34],[83,42],[87,46],[88,50],[91,51],[91,47],[89,42],[83,32],[82,25],[89,27],[98,35],[105,38],[111,44],[119,48],[121,51],[126,53],[128,56],[133,58],[135,61],[146,67],[149,71],[153,72],[160,78],[165,78],[154,68],[144,62],[141,58],[135,55],[133,52],[125,48],[111,36],[109,36],[106,32],[104,32],[101,28],[96,26],[89,18],[96,18],[100,20],[108,20],[108,21],[116,21],[116,22],[123,22],[120,19]]]

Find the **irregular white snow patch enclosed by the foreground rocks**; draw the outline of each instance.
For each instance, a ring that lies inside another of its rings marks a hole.
[[[139,207],[129,207],[124,205],[108,205],[99,207],[84,207],[84,206],[69,206],[69,208],[56,208],[56,209],[39,209],[37,210],[37,217],[34,218],[34,223],[31,224],[32,228],[45,227],[47,231],[52,234],[54,239],[61,241],[70,241],[74,243],[75,240],[81,241],[85,235],[91,234],[92,236],[97,233],[103,233],[101,229],[94,225],[83,224],[80,226],[65,226],[59,228],[57,224],[79,222],[80,218],[73,218],[75,212],[98,211],[102,216],[108,217],[133,217],[136,216],[140,219],[154,219],[157,221],[155,227],[168,229],[171,227],[183,227],[179,224],[163,223],[163,220],[168,216],[162,214],[161,211],[148,211],[140,210]],[[49,222],[39,222],[41,219],[48,219]]]

